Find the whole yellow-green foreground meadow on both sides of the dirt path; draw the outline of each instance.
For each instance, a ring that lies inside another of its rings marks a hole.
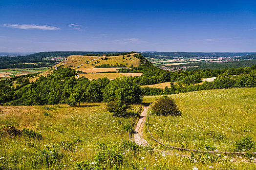
[[[236,88],[171,95],[182,116],[150,115],[149,128],[155,138],[170,145],[203,149],[207,143],[218,150],[232,151],[237,138],[251,135],[255,140],[255,92],[256,88]],[[146,96],[144,102],[153,102],[157,97]],[[138,108],[139,105],[134,105],[133,112]],[[0,169],[81,170],[86,166],[112,170],[256,168],[255,164],[232,162],[235,155],[198,157],[195,153],[192,158],[186,158],[179,154],[190,153],[173,150],[171,152],[176,154],[167,155],[138,147],[127,140],[126,129],[131,119],[113,117],[106,111],[104,103],[83,103],[80,107],[65,104],[0,106]],[[29,131],[23,130],[22,135],[12,136],[15,131],[8,131],[6,126]],[[206,135],[207,132],[225,138],[219,141]],[[148,133],[144,135],[152,146],[166,150],[151,141]]]

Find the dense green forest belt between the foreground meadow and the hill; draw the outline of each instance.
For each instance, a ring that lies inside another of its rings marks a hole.
[[[128,99],[141,99],[141,95],[173,94],[204,89],[229,87],[255,87],[256,65],[246,68],[203,69],[193,71],[170,72],[154,67],[142,55],[137,68],[143,75],[123,77],[110,81],[107,78],[88,80],[85,77],[75,78],[77,72],[71,68],[59,67],[47,77],[41,76],[36,82],[29,82],[28,75],[0,81],[1,105],[43,105],[67,103],[76,105],[80,102],[109,102],[125,95]],[[128,69],[125,69],[128,71]],[[201,78],[217,77],[213,82],[202,82]],[[171,88],[157,89],[139,85],[171,83]],[[14,83],[19,84],[14,87]],[[119,89],[116,91],[116,89]],[[137,96],[139,95],[139,96]],[[123,97],[122,97],[123,99]],[[138,101],[129,100],[132,103]]]

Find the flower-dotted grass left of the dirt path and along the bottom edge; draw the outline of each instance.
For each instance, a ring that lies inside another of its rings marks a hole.
[[[133,112],[138,108],[139,105],[134,105]],[[128,133],[123,127],[131,119],[131,117],[113,117],[106,111],[104,103],[83,103],[81,107],[70,107],[65,104],[54,107],[51,105],[0,106],[0,128],[15,126],[17,129],[26,128],[43,135],[41,140],[25,136],[0,136],[0,167],[21,170],[75,170],[76,163],[80,161],[88,160],[92,164],[95,154],[101,151],[98,148],[101,143],[111,143],[119,147],[120,142],[128,139]],[[78,141],[77,139],[81,141],[69,145],[68,142]],[[61,141],[67,145],[61,145]],[[55,155],[58,154],[63,154],[64,158],[56,158]],[[122,169],[209,170],[213,167],[213,169],[225,170],[234,168],[253,170],[255,168],[255,164],[230,162],[230,157],[217,156],[216,162],[193,162],[189,158],[149,152],[148,149],[135,155],[130,154],[129,150],[122,153],[130,157],[121,166]],[[42,162],[38,162],[39,160]],[[46,160],[50,162],[49,166]]]

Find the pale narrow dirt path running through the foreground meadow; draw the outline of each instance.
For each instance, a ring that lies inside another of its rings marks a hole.
[[[140,146],[149,146],[147,140],[143,138],[143,125],[146,122],[148,108],[149,106],[144,106],[143,111],[140,114],[140,119],[138,120],[134,131],[134,141]]]

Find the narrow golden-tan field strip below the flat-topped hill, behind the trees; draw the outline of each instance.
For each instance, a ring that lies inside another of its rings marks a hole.
[[[123,77],[123,76],[140,76],[142,73],[88,73],[88,74],[79,74],[79,77],[86,77],[89,80],[92,79],[98,79],[98,78],[104,78],[107,77],[108,79],[116,79],[118,77]]]

